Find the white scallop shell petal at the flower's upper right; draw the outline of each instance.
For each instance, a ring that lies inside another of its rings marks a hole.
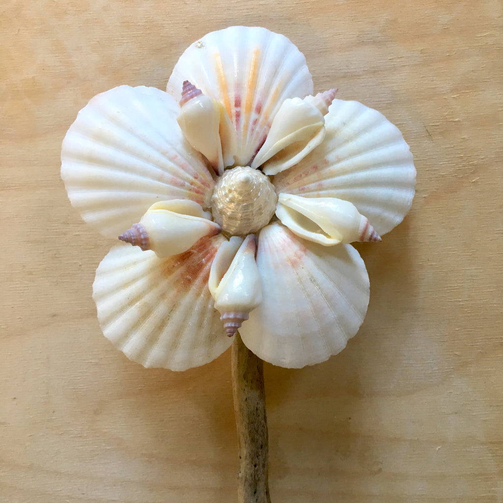
[[[277,193],[334,197],[353,203],[383,235],[410,209],[412,154],[382,114],[355,101],[333,100],[325,139],[296,166],[274,177]]]

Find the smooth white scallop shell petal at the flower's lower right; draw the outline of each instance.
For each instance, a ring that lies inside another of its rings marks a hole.
[[[345,348],[369,302],[369,278],[355,248],[327,248],[275,223],[260,232],[257,265],[263,301],[239,329],[251,351],[274,365],[300,368]]]

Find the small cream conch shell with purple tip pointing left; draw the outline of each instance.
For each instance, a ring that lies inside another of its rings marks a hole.
[[[139,223],[123,232],[119,239],[142,250],[153,250],[157,257],[187,251],[204,236],[214,236],[220,226],[197,203],[176,199],[155,203]]]

